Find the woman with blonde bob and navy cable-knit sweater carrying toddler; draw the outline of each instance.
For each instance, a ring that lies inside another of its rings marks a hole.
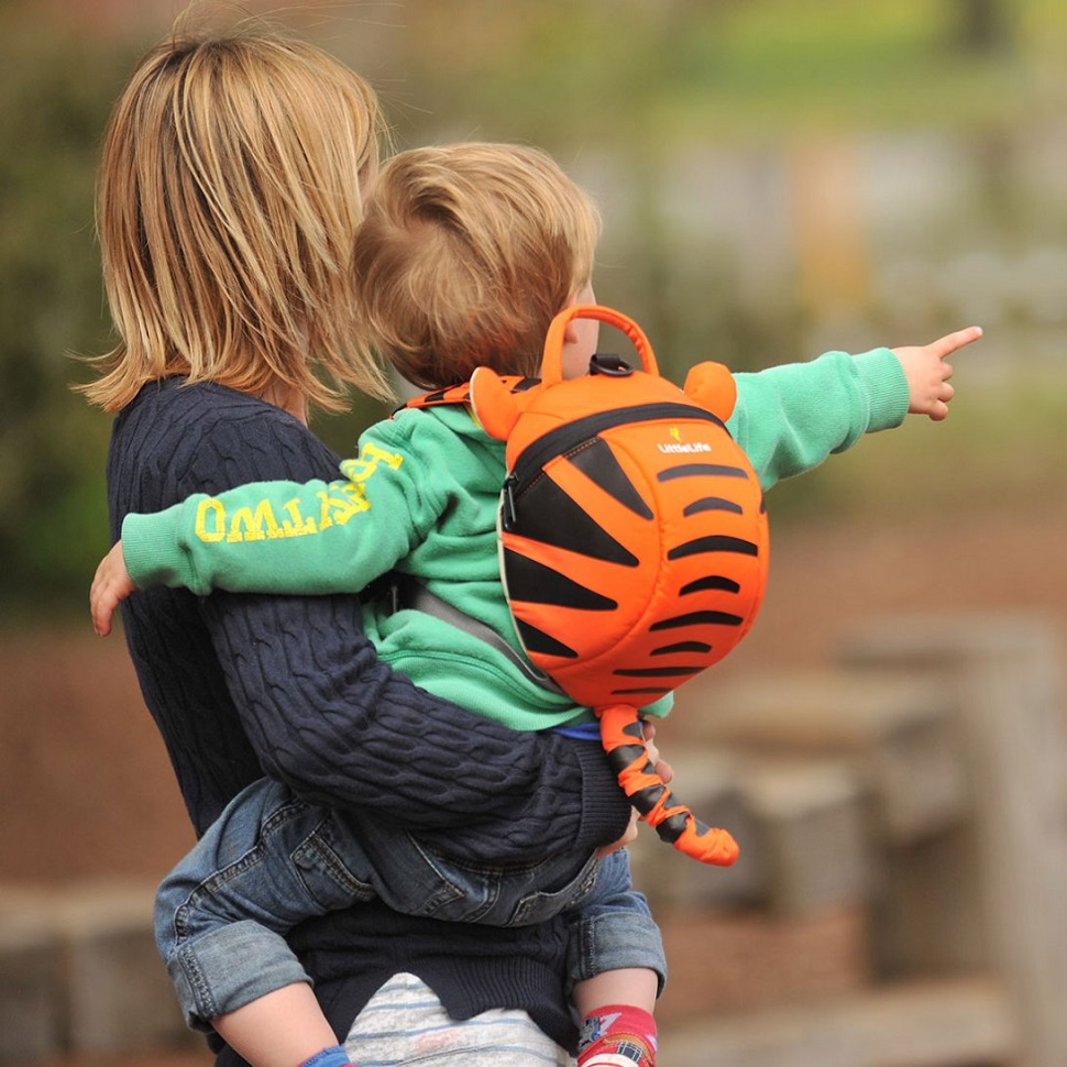
[[[306,426],[308,406],[336,405],[339,382],[383,391],[353,344],[346,273],[377,172],[374,91],[261,22],[199,20],[217,7],[190,4],[136,64],[102,146],[97,221],[116,343],[85,392],[116,415],[113,539],[127,513],[190,493],[334,476],[338,457]],[[630,806],[602,751],[517,734],[417,689],[377,659],[355,597],[157,588],[122,610],[198,835],[264,774],[502,864],[592,851],[626,832]],[[330,1022],[320,1016],[312,1047],[346,1040],[371,1056],[384,1032],[391,1062],[422,1063],[432,1033],[439,1067],[497,1067],[562,1064],[576,1042],[562,916],[503,930],[372,901],[308,920],[287,941],[315,982],[300,989]],[[277,979],[243,974],[229,1007]],[[293,1067],[308,1047],[306,1033],[300,1048],[276,1030],[270,1044],[257,1035],[242,1044],[257,1067]],[[210,1042],[219,1067],[241,1063]]]

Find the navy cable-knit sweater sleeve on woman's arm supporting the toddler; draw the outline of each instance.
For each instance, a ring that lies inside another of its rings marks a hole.
[[[193,450],[179,493],[330,476],[336,458],[309,439],[295,422],[230,420]],[[513,732],[417,689],[377,660],[354,597],[200,604],[264,770],[298,795],[501,860],[587,850],[625,829],[628,803],[598,746]]]

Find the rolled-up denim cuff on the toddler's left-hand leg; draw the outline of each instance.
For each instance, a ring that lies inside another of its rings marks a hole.
[[[254,922],[232,923],[178,947],[167,974],[194,1030],[295,982],[311,983],[285,938]]]

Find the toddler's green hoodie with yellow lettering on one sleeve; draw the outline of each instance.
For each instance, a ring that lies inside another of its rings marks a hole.
[[[737,374],[727,427],[763,488],[809,471],[864,433],[899,426],[908,383],[889,349],[829,352]],[[139,586],[284,594],[359,593],[396,570],[520,648],[501,584],[496,514],[504,444],[462,407],[402,410],[372,426],[336,482],[264,482],[197,494],[122,525]],[[488,642],[433,615],[370,598],[367,636],[391,667],[439,696],[516,729],[591,718]],[[671,698],[646,710],[664,715]]]

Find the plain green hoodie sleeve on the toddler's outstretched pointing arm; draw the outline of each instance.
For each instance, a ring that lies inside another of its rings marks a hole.
[[[765,490],[908,415],[908,381],[890,349],[827,352],[734,380],[737,404],[726,425]]]

